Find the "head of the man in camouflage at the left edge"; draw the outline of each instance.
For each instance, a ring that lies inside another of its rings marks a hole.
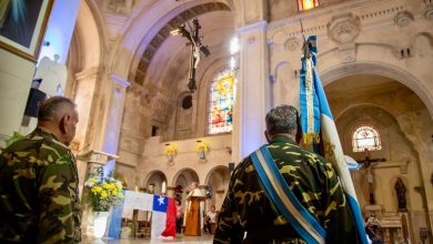
[[[52,96],[39,108],[38,126],[54,134],[66,145],[73,140],[77,123],[75,104],[68,98]]]

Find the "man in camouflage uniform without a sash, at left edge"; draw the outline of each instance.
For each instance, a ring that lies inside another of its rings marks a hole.
[[[78,172],[68,149],[78,113],[67,98],[41,104],[37,129],[0,155],[0,243],[81,240]]]

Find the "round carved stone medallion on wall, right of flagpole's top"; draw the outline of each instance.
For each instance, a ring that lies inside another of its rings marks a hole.
[[[354,43],[360,34],[360,18],[352,13],[333,17],[326,24],[329,38],[338,44]]]

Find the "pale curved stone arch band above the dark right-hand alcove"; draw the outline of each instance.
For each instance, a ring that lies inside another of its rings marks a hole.
[[[376,74],[393,79],[411,89],[427,108],[433,119],[433,98],[429,94],[429,89],[414,75],[395,65],[381,62],[354,62],[339,64],[328,70],[320,71],[323,87],[341,78],[356,74]]]

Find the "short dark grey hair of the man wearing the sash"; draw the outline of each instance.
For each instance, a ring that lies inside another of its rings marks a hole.
[[[266,131],[270,134],[289,133],[296,134],[298,110],[292,105],[280,105],[268,112]]]

